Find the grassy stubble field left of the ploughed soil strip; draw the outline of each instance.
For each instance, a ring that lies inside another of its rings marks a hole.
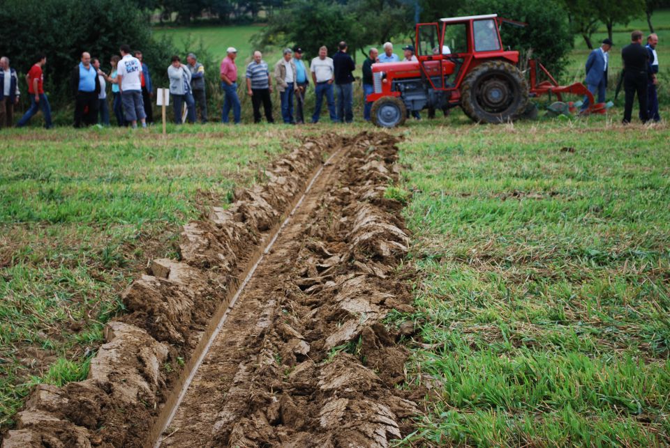
[[[297,141],[281,126],[3,130],[0,433],[29,387],[85,378],[119,293],[179,224]]]

